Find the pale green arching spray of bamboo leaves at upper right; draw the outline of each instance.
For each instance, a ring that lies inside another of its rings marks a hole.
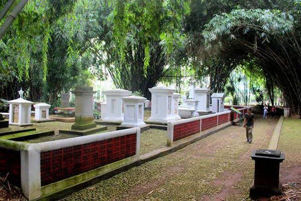
[[[247,35],[250,32],[269,42],[274,35],[284,35],[293,28],[293,16],[280,10],[237,9],[230,14],[216,15],[208,24],[202,36],[207,48],[212,47],[213,41],[221,38],[235,39],[237,34]]]

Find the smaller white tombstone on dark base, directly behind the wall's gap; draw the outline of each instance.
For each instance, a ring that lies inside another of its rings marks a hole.
[[[122,127],[141,127],[144,126],[144,101],[146,98],[141,96],[126,96],[122,98],[124,104],[124,117]]]

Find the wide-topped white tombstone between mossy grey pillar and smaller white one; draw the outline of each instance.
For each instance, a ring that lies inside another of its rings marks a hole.
[[[129,96],[131,91],[116,89],[102,93],[106,96],[106,102],[101,103],[100,119],[103,121],[123,121],[122,97]]]

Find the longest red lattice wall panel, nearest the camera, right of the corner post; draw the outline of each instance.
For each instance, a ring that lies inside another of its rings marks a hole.
[[[41,184],[58,182],[135,154],[136,134],[41,152]]]

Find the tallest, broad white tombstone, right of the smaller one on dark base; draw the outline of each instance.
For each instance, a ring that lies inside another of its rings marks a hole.
[[[176,90],[165,86],[157,86],[149,90],[151,91],[151,117],[148,120],[160,123],[175,120],[173,93]]]

